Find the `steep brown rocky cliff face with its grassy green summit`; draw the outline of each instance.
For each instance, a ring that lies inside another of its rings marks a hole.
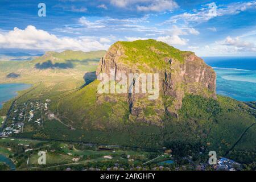
[[[115,43],[101,59],[96,73],[110,76],[111,69],[117,82],[118,73],[159,74],[158,99],[148,100],[148,94],[141,93],[119,96],[130,106],[130,121],[162,125],[164,114],[178,117],[185,94],[216,98],[216,73],[211,67],[193,52],[179,51],[155,40]],[[99,94],[98,98],[111,102],[117,100],[114,97]]]

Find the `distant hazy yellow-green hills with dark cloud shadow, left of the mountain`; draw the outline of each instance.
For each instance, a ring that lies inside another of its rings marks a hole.
[[[106,51],[63,51],[63,52],[46,52],[42,56],[33,57],[31,61],[26,61],[27,57],[13,61],[1,61],[0,71],[9,74],[15,72],[24,75],[26,71],[31,72],[31,69],[80,69],[80,71],[95,71],[101,57]],[[30,57],[31,58],[31,57]],[[10,57],[8,58],[10,59]],[[1,74],[0,74],[1,75]]]

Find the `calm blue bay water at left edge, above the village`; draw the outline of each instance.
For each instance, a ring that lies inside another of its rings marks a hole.
[[[28,84],[0,84],[0,109],[3,102],[18,95],[17,91],[28,89],[30,86]]]

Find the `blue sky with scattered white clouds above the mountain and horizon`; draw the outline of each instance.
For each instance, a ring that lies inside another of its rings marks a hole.
[[[2,53],[107,50],[138,39],[199,56],[256,56],[256,1],[0,1]]]

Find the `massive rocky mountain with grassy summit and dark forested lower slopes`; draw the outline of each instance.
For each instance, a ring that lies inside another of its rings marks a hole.
[[[106,73],[159,73],[159,97],[100,94],[94,81],[61,98],[56,114],[76,140],[125,146],[174,148],[177,153],[214,150],[218,155],[253,152],[255,110],[232,98],[216,96],[216,74],[193,52],[155,40],[117,42],[97,68]],[[80,133],[80,134],[78,134]],[[72,137],[71,137],[72,136]],[[242,137],[241,137],[242,136]],[[242,142],[241,142],[242,140]]]

